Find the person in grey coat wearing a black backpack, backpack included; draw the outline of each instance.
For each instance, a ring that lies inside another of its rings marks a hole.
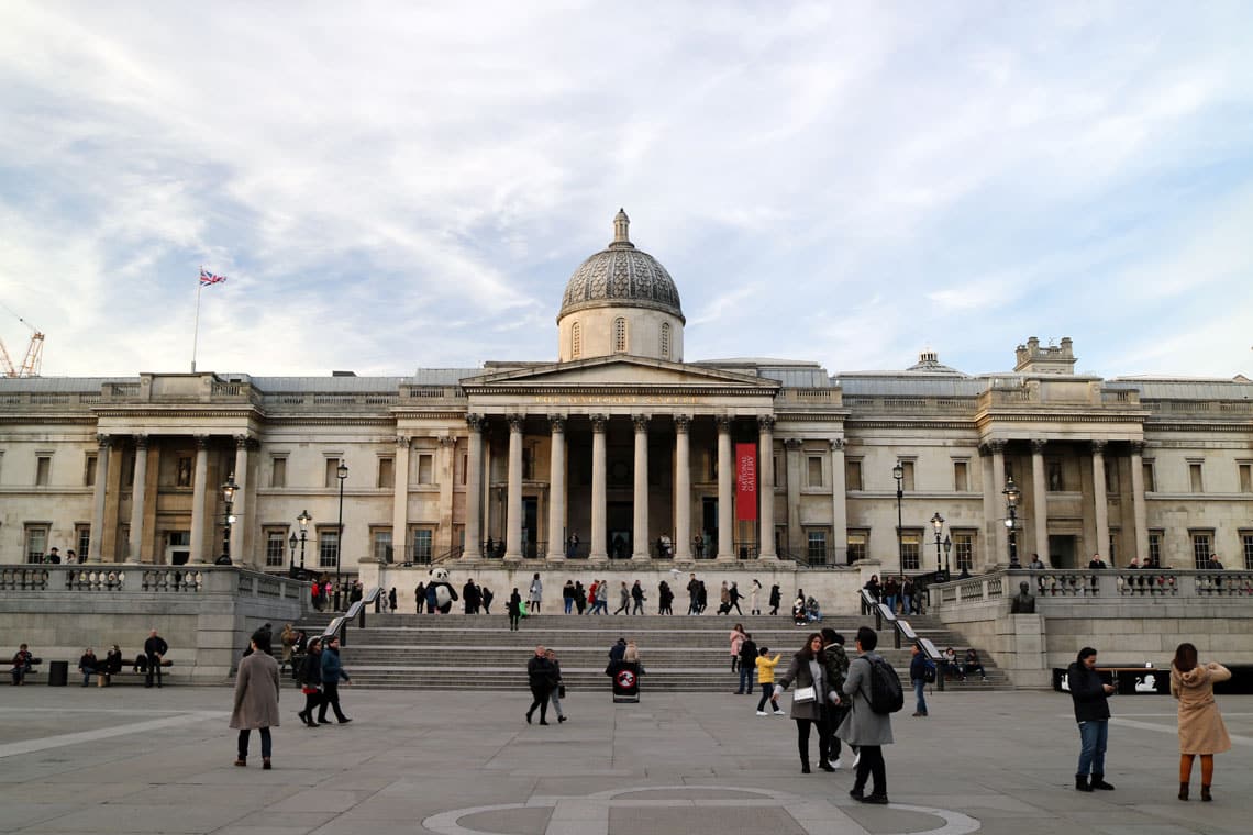
[[[868,626],[857,630],[857,657],[848,665],[845,695],[852,710],[836,735],[858,747],[857,775],[848,796],[863,804],[887,805],[887,766],[883,746],[892,744],[892,714],[901,709],[905,695],[896,671],[875,652],[878,635]],[[893,686],[895,685],[895,686]],[[867,777],[873,777],[871,792],[863,794]]]

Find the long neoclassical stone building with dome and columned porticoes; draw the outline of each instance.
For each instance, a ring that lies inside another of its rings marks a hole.
[[[1094,552],[1253,567],[1248,379],[1075,374],[1069,338],[975,376],[931,352],[836,374],[689,362],[678,288],[628,227],[619,212],[566,283],[556,361],[0,379],[0,561],[920,572],[1006,563],[1012,542],[1058,567]]]

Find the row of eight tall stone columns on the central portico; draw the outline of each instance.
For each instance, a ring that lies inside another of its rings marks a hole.
[[[648,520],[648,426],[649,416],[634,414],[634,486],[633,486],[633,560],[648,560],[652,541]],[[690,560],[692,553],[692,473],[690,427],[692,416],[674,417],[674,456],[678,462],[674,473],[674,557]],[[505,560],[521,560],[523,540],[523,429],[525,416],[509,414],[509,484],[506,489]],[[551,438],[550,502],[549,502],[549,560],[565,557],[561,533],[566,520],[566,441],[565,416],[549,416]],[[609,417],[590,416],[591,421],[591,542],[590,558],[608,560],[606,552],[606,454],[605,429]],[[718,543],[719,557],[734,558],[734,464],[732,462],[730,418],[715,416],[718,427]],[[482,472],[485,419],[481,414],[466,417],[470,427],[469,473],[466,476],[466,543],[465,558],[479,556],[482,541]],[[774,418],[762,414],[758,426],[758,492],[759,492],[759,557],[776,560],[774,547]],[[843,467],[840,468],[841,476]]]

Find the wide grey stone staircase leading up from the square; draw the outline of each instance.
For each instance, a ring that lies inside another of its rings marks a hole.
[[[330,616],[311,616],[301,623],[308,633],[320,633]],[[788,657],[816,631],[801,627],[791,617],[744,616],[578,616],[535,615],[511,632],[504,615],[375,615],[367,613],[366,628],[352,623],[347,631],[343,663],[355,686],[387,690],[525,690],[526,661],[535,645],[556,650],[568,689],[608,690],[604,675],[609,647],[625,637],[639,643],[649,690],[718,692],[734,691],[738,674],[730,671],[728,635],[743,623],[758,646],[782,653],[779,672]],[[937,647],[965,650],[961,636],[928,617],[910,618],[920,637]],[[848,641],[858,626],[873,626],[873,618],[827,617],[829,626]],[[910,650],[893,648],[893,633],[878,633],[880,651],[908,686]],[[1011,689],[1005,674],[984,656],[989,681],[949,682],[952,689]]]

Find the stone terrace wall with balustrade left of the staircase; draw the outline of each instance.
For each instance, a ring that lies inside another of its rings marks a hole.
[[[117,643],[130,665],[155,628],[173,681],[221,684],[257,627],[269,622],[277,635],[299,620],[307,587],[234,566],[5,566],[0,633],[9,655],[29,643],[41,670],[69,661],[73,681],[85,647],[104,658]]]

